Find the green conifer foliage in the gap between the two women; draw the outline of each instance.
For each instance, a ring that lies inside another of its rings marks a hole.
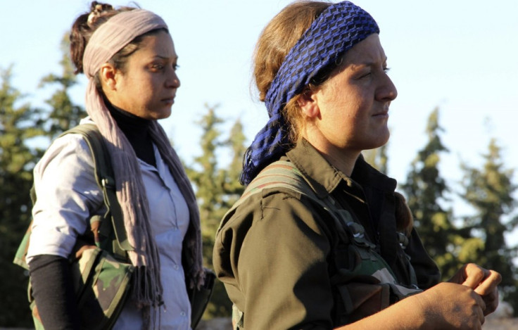
[[[217,227],[225,212],[241,196],[244,187],[239,184],[241,157],[245,151],[243,127],[236,121],[228,139],[221,138],[217,127],[222,119],[217,117],[215,107],[206,106],[208,112],[198,124],[203,129],[200,156],[194,158],[194,164],[187,166],[187,175],[196,188],[196,198],[200,208],[201,233],[203,236],[203,261],[206,267],[213,265],[213,246]],[[218,163],[222,149],[229,149],[230,163]],[[204,318],[228,317],[232,312],[225,287],[216,281],[213,297]]]

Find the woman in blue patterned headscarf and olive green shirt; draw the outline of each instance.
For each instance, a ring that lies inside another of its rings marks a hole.
[[[388,141],[387,70],[377,23],[348,1],[296,2],[265,27],[254,73],[270,120],[214,248],[234,328],[480,329],[498,305],[497,272],[469,264],[438,284],[396,180],[361,156]]]

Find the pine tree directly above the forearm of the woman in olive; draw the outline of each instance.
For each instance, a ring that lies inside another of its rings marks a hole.
[[[429,116],[426,129],[429,140],[412,162],[402,188],[424,247],[437,262],[443,278],[448,279],[460,266],[454,254],[454,242],[462,241],[462,236],[451,221],[452,210],[443,207],[449,189],[438,166],[441,153],[448,149],[441,141],[443,129],[438,124],[438,115],[436,108]]]

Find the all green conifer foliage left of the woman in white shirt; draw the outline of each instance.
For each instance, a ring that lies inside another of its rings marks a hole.
[[[22,104],[24,95],[11,86],[11,68],[1,70],[0,89],[0,313],[1,326],[32,326],[27,300],[27,273],[12,260],[30,223],[29,191],[32,170],[44,150],[33,138],[56,137],[79,123],[84,110],[72,103],[68,89],[75,82],[68,58],[68,41],[62,42],[63,75],[48,75],[41,86],[58,84],[46,103],[51,110]],[[46,141],[46,139],[44,139]],[[42,139],[39,139],[41,145]],[[34,145],[34,146],[33,146]]]

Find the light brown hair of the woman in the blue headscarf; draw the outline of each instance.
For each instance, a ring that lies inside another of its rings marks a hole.
[[[255,46],[253,58],[253,77],[260,101],[265,101],[272,80],[290,49],[318,15],[329,6],[330,3],[322,1],[296,1],[282,9],[265,27]],[[324,80],[315,80],[315,84],[310,84],[306,91],[315,91]],[[301,110],[297,104],[300,96],[301,94],[294,96],[283,110],[284,118],[290,127],[289,139],[293,143],[298,140],[298,132],[303,125]]]

